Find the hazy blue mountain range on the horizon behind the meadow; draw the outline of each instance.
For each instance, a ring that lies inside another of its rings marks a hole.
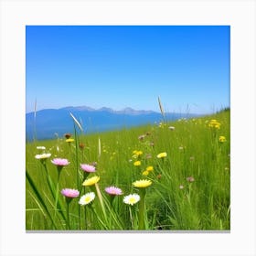
[[[62,137],[64,133],[73,133],[73,120],[69,114],[70,112],[81,123],[85,133],[101,133],[148,123],[159,123],[163,120],[159,112],[137,111],[132,108],[125,108],[122,111],[114,111],[106,107],[95,110],[87,106],[46,109],[36,112],[36,122],[35,112],[26,114],[27,141],[33,140],[35,127],[37,140],[52,139],[56,133],[59,137]],[[168,121],[196,116],[198,114],[165,113],[165,118]]]

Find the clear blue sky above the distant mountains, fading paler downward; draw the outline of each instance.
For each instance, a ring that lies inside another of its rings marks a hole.
[[[27,26],[26,110],[229,106],[229,26]]]

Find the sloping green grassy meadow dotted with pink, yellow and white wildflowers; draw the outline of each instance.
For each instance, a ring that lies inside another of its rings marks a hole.
[[[230,229],[229,115],[27,143],[26,229]]]

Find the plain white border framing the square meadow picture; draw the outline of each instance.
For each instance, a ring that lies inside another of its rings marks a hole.
[[[0,0],[0,4],[0,255],[256,255],[255,1]],[[231,26],[230,233],[26,233],[26,25]]]

